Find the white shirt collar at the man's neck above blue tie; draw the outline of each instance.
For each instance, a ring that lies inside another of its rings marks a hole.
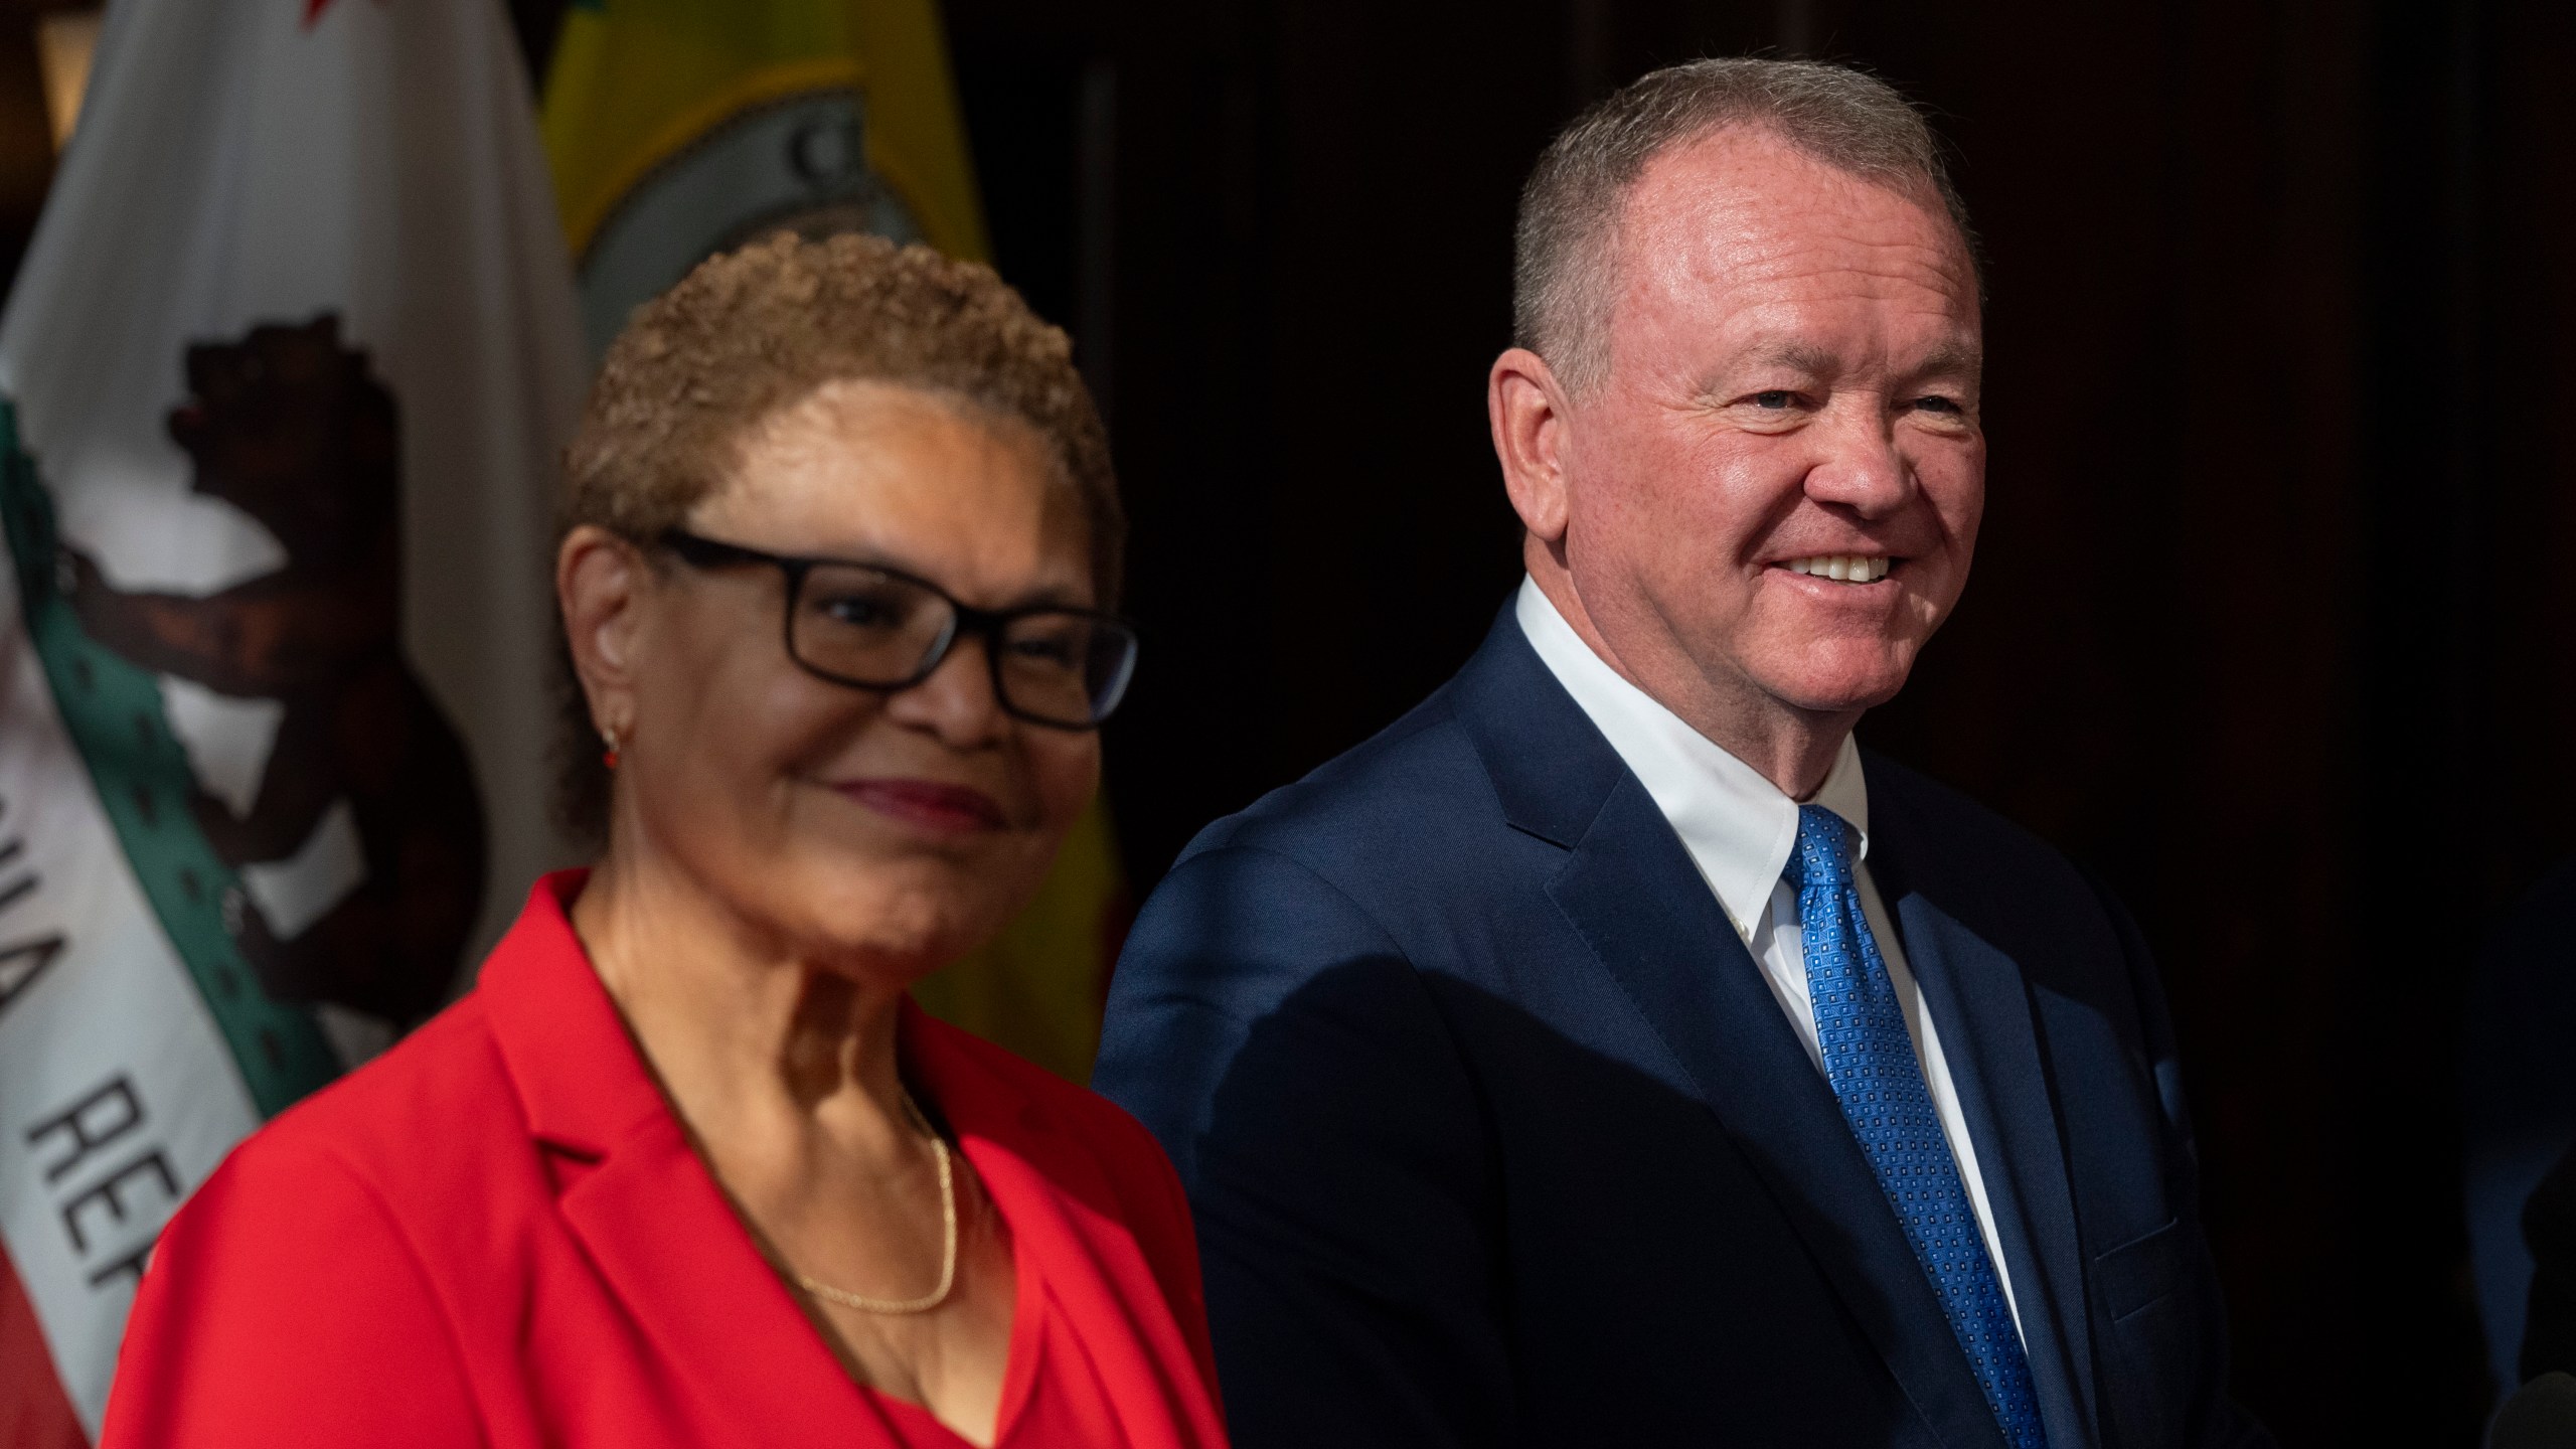
[[[1728,920],[1749,938],[1770,913],[1788,853],[1798,848],[1798,802],[1595,655],[1540,593],[1538,580],[1520,580],[1512,614],[1530,650],[1646,786]],[[1855,859],[1868,859],[1870,786],[1850,735],[1842,737],[1814,804],[1839,815],[1860,838]]]

